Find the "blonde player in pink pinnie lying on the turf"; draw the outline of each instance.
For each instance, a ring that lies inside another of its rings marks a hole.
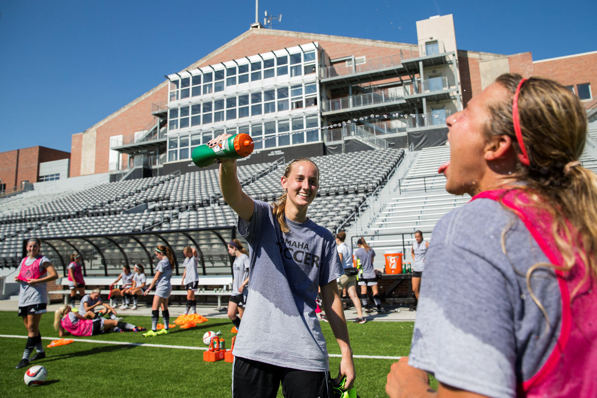
[[[139,328],[132,323],[106,319],[101,316],[96,319],[87,319],[79,313],[72,312],[70,306],[60,306],[54,311],[54,329],[58,331],[60,337],[69,334],[73,336],[92,336],[109,332],[110,329],[115,332],[141,332],[145,330],[145,328]]]

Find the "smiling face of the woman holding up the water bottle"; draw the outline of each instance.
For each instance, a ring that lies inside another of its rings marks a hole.
[[[294,163],[288,178],[282,177],[282,188],[287,192],[287,205],[291,203],[299,209],[309,206],[319,188],[317,166],[311,162]]]

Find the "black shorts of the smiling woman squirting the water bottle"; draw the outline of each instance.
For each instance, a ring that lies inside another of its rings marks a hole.
[[[330,397],[330,372],[284,368],[235,357],[232,365],[233,398],[275,398],[280,383],[286,398]]]

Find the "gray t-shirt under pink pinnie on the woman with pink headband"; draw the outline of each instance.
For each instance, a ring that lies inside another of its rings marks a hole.
[[[560,330],[553,270],[540,268],[531,276],[549,331],[527,289],[525,274],[537,263],[549,261],[500,203],[475,199],[445,215],[427,251],[408,363],[463,390],[516,396],[516,385],[543,366]]]

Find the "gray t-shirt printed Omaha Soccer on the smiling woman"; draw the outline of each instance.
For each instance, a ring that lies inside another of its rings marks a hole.
[[[315,299],[318,286],[343,274],[336,242],[311,220],[287,220],[290,233],[283,234],[272,207],[254,203],[251,221],[238,220],[239,233],[250,246],[250,299],[234,354],[286,368],[328,371]]]

